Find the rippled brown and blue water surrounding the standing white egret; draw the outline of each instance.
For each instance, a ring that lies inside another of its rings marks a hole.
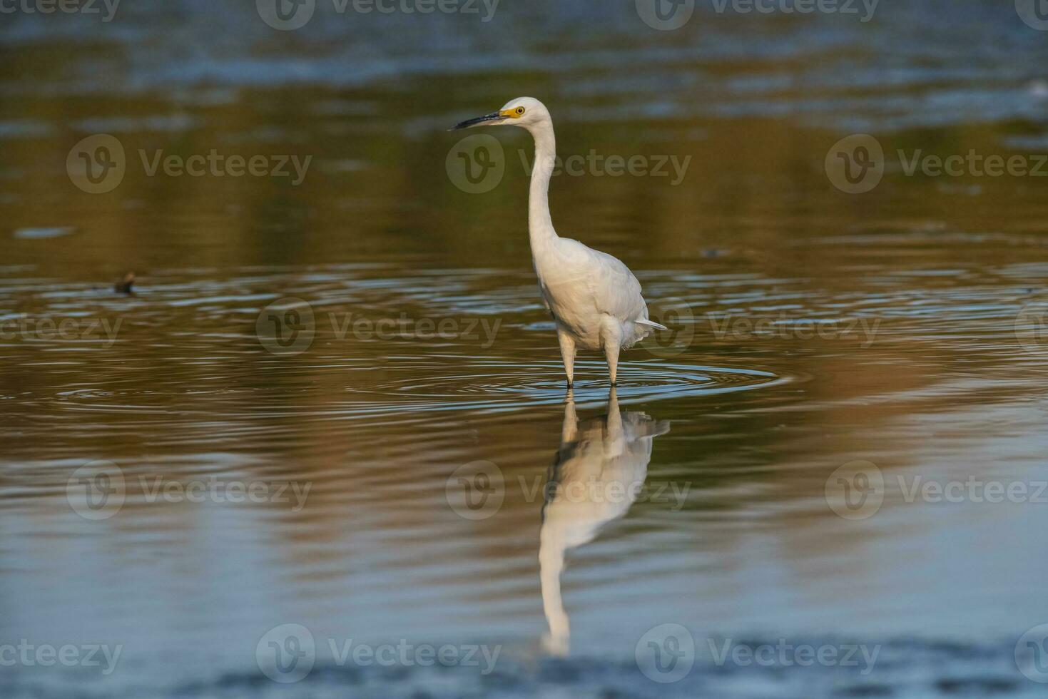
[[[1045,182],[889,167],[847,195],[824,160],[853,132],[888,153],[1044,152],[1045,36],[1010,3],[869,24],[700,13],[672,34],[631,4],[506,5],[486,24],[321,12],[278,34],[249,7],[145,2],[102,27],[0,30],[0,639],[124,647],[107,676],[5,668],[7,696],[1040,690],[1012,656],[1048,622],[1048,504],[909,502],[899,479],[1048,480]],[[445,171],[461,134],[444,129],[517,94],[550,107],[562,155],[691,158],[676,187],[553,179],[560,233],[626,261],[673,320],[624,354],[614,396],[583,355],[567,402],[530,269],[525,134],[496,132],[505,175],[486,194]],[[65,163],[99,132],[128,165],[92,195]],[[212,149],[312,160],[294,185],[150,176],[138,155]],[[129,269],[135,292],[115,293]],[[308,309],[301,343],[275,342],[267,308]],[[565,525],[565,636],[543,595],[546,484],[623,454],[639,496]],[[503,501],[468,519],[447,484],[478,461]],[[855,461],[887,483],[864,520],[826,498]],[[92,521],[67,485],[96,462],[126,500]],[[286,501],[172,501],[194,483],[287,484]],[[633,657],[670,622],[700,657],[660,685]],[[290,689],[256,661],[284,624],[321,648]],[[326,640],[349,638],[502,659],[340,667]],[[719,668],[723,638],[882,655],[870,675]]]

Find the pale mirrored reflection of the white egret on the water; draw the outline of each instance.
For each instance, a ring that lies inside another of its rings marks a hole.
[[[546,484],[539,545],[548,652],[568,652],[568,615],[561,599],[565,553],[593,541],[601,527],[626,515],[648,476],[652,440],[669,431],[667,420],[619,412],[614,388],[608,397],[608,414],[580,424],[568,392],[561,449]]]

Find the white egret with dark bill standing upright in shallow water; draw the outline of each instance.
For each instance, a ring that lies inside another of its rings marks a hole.
[[[534,138],[528,197],[531,262],[546,309],[556,324],[568,387],[574,383],[577,348],[604,350],[614,386],[618,351],[632,347],[655,329],[667,328],[648,320],[640,282],[620,260],[577,240],[561,238],[553,230],[548,195],[556,141],[553,121],[544,104],[533,97],[510,100],[499,111],[456,124],[453,130],[503,125],[527,129]]]

